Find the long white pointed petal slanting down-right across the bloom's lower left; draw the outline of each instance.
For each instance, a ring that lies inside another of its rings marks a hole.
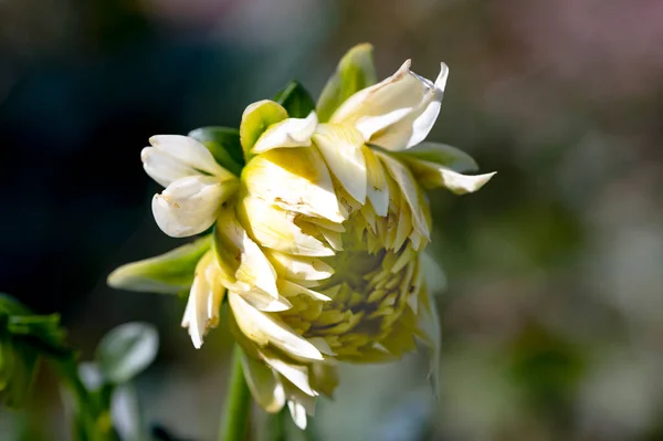
[[[315,346],[297,335],[278,318],[261,313],[235,293],[229,293],[228,301],[230,307],[232,307],[238,327],[259,346],[269,343],[291,357],[305,360],[323,359],[323,355]]]

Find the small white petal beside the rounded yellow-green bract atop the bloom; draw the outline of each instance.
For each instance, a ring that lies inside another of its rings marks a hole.
[[[317,123],[315,112],[306,118],[287,118],[276,123],[261,135],[251,151],[261,154],[280,147],[308,147]]]

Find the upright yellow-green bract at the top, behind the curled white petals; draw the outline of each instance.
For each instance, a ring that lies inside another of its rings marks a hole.
[[[320,123],[329,120],[334,112],[351,95],[377,83],[372,45],[358,44],[350,49],[336,67],[317,103]]]

